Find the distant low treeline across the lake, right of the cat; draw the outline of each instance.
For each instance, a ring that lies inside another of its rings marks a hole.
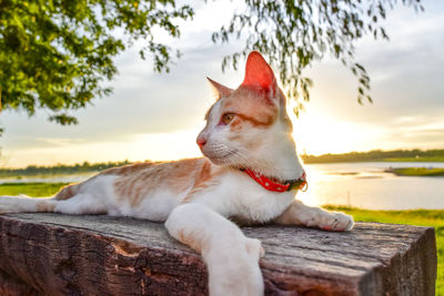
[[[301,155],[304,163],[334,162],[444,162],[444,150],[394,150],[350,152],[343,154]]]

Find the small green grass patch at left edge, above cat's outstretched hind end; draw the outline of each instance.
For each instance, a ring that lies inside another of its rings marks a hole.
[[[65,183],[3,183],[0,184],[0,195],[51,196],[64,185]]]

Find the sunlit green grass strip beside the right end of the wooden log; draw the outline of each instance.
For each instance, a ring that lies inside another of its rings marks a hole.
[[[344,206],[324,206],[329,210],[345,212],[355,221],[408,224],[416,226],[433,226],[436,235],[437,278],[436,295],[444,295],[444,211],[412,210],[412,211],[369,211]]]

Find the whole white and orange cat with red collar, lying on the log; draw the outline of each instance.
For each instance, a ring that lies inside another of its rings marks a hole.
[[[285,96],[259,52],[232,90],[210,80],[219,96],[198,136],[203,159],[110,169],[63,187],[53,197],[0,197],[0,214],[107,214],[165,222],[169,233],[200,254],[211,295],[262,295],[261,243],[232,221],[350,231],[353,218],[305,206],[305,183]]]

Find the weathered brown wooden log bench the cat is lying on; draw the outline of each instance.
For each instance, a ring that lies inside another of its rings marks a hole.
[[[432,227],[356,223],[351,233],[268,225],[266,295],[434,295]],[[206,295],[196,253],[162,224],[109,216],[0,216],[0,295]]]

